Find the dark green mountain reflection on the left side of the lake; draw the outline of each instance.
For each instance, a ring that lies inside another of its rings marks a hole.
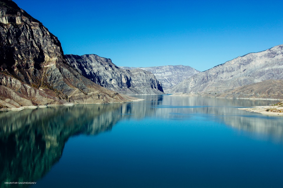
[[[121,104],[75,105],[0,113],[0,184],[35,182],[50,171],[72,135],[111,130]],[[7,187],[28,185],[5,184]]]

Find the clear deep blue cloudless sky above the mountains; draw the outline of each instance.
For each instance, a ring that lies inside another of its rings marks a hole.
[[[205,71],[283,44],[282,0],[14,0],[58,37],[65,54],[117,66]]]

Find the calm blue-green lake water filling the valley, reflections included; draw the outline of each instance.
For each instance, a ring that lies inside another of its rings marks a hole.
[[[0,187],[282,187],[278,101],[169,95],[0,113]]]

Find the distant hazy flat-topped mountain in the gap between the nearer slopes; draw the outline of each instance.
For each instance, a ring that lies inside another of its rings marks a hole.
[[[120,67],[123,69],[134,70],[136,67]],[[155,77],[162,83],[164,92],[168,89],[190,78],[191,76],[200,73],[200,71],[184,65],[167,65],[158,67],[138,67],[139,69],[152,72]]]

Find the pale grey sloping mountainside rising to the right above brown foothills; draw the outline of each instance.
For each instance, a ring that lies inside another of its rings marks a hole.
[[[170,93],[218,93],[270,79],[283,79],[283,45],[215,66],[182,81]]]

